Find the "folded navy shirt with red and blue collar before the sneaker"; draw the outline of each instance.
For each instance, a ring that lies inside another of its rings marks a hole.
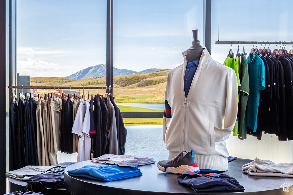
[[[244,188],[238,181],[226,174],[197,174],[185,171],[183,175],[177,177],[182,184],[188,185],[194,191],[243,191]]]

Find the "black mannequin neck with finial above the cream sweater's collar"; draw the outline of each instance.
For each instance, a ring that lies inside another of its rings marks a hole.
[[[192,30],[193,33],[193,42],[192,46],[187,50],[186,59],[188,62],[193,62],[195,60],[200,59],[202,55],[202,51],[205,47],[200,45],[200,41],[198,40],[198,30]]]

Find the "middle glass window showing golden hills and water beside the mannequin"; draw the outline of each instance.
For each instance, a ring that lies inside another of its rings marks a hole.
[[[115,100],[122,111],[163,112],[168,72],[183,63],[181,53],[192,45],[192,30],[199,29],[203,40],[203,1],[114,0],[113,5]],[[115,68],[137,74],[115,76]],[[158,125],[163,118],[124,118],[124,122],[134,125],[127,126],[125,153],[168,154],[163,127]]]

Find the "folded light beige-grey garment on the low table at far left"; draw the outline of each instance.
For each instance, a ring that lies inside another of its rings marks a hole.
[[[39,173],[44,173],[47,170],[53,168],[54,166],[25,166],[23,168],[6,172],[6,177],[12,177],[18,180],[27,180],[30,177],[37,175]]]

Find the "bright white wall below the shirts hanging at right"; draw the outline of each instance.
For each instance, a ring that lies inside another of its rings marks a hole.
[[[279,141],[278,137],[263,134],[261,140],[252,135],[247,139],[240,140],[237,136],[230,134],[226,140],[229,156],[237,158],[270,160],[274,163],[293,162],[293,141]]]

